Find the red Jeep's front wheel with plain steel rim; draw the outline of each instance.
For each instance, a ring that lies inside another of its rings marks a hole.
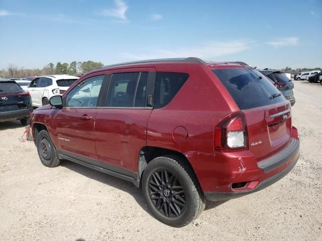
[[[37,135],[37,152],[41,163],[46,167],[57,167],[60,164],[56,148],[52,144],[50,136],[46,130],[42,130]]]

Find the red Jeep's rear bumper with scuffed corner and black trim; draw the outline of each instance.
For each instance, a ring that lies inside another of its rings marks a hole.
[[[206,198],[221,201],[260,191],[280,180],[296,165],[299,145],[297,129],[292,127],[287,146],[261,161],[250,150],[186,156]]]

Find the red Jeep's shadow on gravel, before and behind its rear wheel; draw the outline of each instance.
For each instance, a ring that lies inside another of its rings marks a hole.
[[[77,172],[93,180],[99,181],[101,183],[104,183],[106,185],[109,185],[111,187],[114,187],[129,193],[130,195],[133,196],[134,200],[142,207],[142,209],[144,209],[149,215],[152,216],[144,200],[141,188],[135,187],[132,183],[67,160],[63,160],[60,166],[67,168],[71,171]],[[226,201],[219,201],[219,202],[206,201],[205,210],[215,208],[225,202]]]

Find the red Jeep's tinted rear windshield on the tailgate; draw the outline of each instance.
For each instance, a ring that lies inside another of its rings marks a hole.
[[[249,68],[212,70],[226,87],[239,109],[275,104],[283,95],[260,72]]]

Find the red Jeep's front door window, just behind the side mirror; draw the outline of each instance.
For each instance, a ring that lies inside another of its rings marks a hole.
[[[97,107],[104,75],[90,77],[78,83],[66,97],[65,107]]]

